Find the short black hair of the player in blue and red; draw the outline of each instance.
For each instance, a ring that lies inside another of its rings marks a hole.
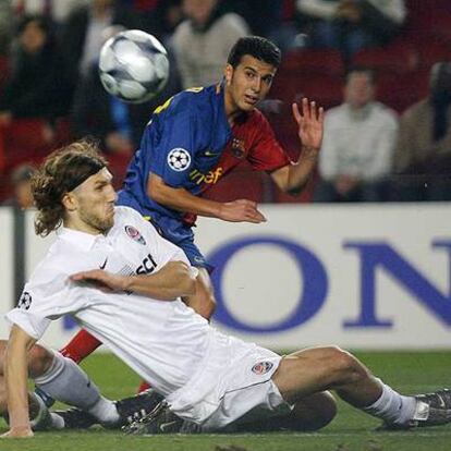
[[[281,51],[279,47],[272,44],[269,39],[260,36],[246,36],[240,38],[230,50],[227,62],[235,69],[245,54],[265,61],[275,68],[279,68],[281,60]]]

